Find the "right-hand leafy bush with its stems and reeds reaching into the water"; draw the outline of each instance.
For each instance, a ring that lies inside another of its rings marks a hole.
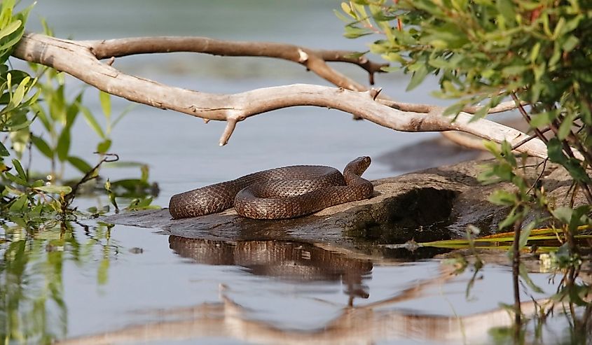
[[[426,245],[475,248],[497,242],[507,248],[514,272],[516,341],[524,335],[519,284],[529,282],[520,254],[526,249],[550,253],[563,274],[553,299],[570,305],[573,334],[580,337],[572,340],[585,342],[591,291],[577,276],[591,248],[592,1],[354,0],[342,3],[338,15],[348,23],[347,37],[382,36],[370,51],[400,66],[390,70],[411,73],[408,90],[430,74],[437,76],[440,90],[435,94],[458,99],[445,111],[448,115],[481,104],[474,115],[481,118],[502,100],[514,99],[532,137],[546,143],[548,160],[572,177],[567,202],[546,195],[546,160],[530,181],[522,172],[524,160],[512,153],[509,143],[486,143],[495,163],[479,176],[481,181],[515,186],[490,196],[490,202],[509,209],[499,227],[511,233],[473,239],[479,229],[470,229],[464,243]],[[549,229],[535,230],[541,226]],[[541,241],[542,246],[535,245]],[[581,318],[574,304],[585,307]]]

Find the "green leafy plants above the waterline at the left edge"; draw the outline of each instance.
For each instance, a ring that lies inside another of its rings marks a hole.
[[[113,120],[110,95],[100,92],[104,115],[104,125],[101,125],[101,119],[83,105],[85,88],[70,97],[62,73],[29,64],[36,74],[36,78],[32,78],[25,71],[11,69],[8,57],[25,32],[30,7],[13,13],[15,1],[3,1],[0,6],[0,132],[6,133],[0,141],[0,217],[22,226],[55,216],[67,219],[75,210],[71,201],[80,191],[78,187],[99,178],[101,167],[100,163],[91,164],[83,157],[72,155],[76,120],[83,117],[97,134],[96,153],[99,162],[104,162],[112,144],[111,131],[131,107]],[[53,34],[45,21],[42,24],[46,34]],[[32,127],[34,121],[41,126]],[[49,160],[51,170],[48,173],[29,171],[32,169],[30,151],[33,148]],[[29,164],[23,164],[27,153]],[[80,171],[83,178],[71,183],[64,181],[67,165]],[[158,192],[158,188],[148,183],[148,167],[137,165],[141,167],[142,178],[115,181],[114,185],[123,187],[117,188],[113,197],[136,198],[130,207],[149,208],[152,200],[149,195]],[[103,208],[95,208],[92,213],[99,212],[99,209]]]

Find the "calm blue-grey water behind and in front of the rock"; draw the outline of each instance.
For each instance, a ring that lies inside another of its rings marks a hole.
[[[284,41],[313,48],[364,50],[341,37],[333,15],[339,1],[39,1],[29,30],[46,17],[56,36],[100,39],[198,35]],[[18,64],[18,62],[14,62]],[[323,83],[301,66],[270,59],[189,54],[118,59],[116,67],[163,83],[206,92],[240,92],[287,83]],[[342,66],[358,80],[364,73]],[[70,80],[71,92],[81,87]],[[385,92],[406,101],[434,102],[434,84],[403,94],[406,78],[379,76]],[[128,105],[113,100],[116,111]],[[85,104],[98,111],[97,93]],[[241,122],[228,146],[217,144],[223,123],[137,106],[113,131],[112,151],[150,165],[160,185],[155,204],[200,185],[291,164],[341,168],[359,155],[378,157],[434,134],[404,134],[322,108],[289,108]],[[98,141],[76,125],[74,153],[92,160]],[[41,157],[34,167],[48,169]],[[135,170],[109,169],[110,178]],[[401,174],[374,162],[368,178]],[[74,176],[73,171],[67,174]],[[85,208],[104,199],[78,199]],[[511,274],[490,264],[466,294],[472,272],[450,276],[441,260],[368,260],[322,246],[282,242],[186,240],[154,230],[92,220],[37,234],[4,230],[0,244],[3,330],[30,343],[67,344],[477,344],[494,342],[490,328],[509,325]],[[18,258],[24,258],[18,260]],[[537,267],[537,265],[535,265]],[[549,274],[533,273],[544,293]],[[419,287],[419,288],[418,288]],[[551,323],[552,324],[552,323]],[[548,344],[565,325],[543,330]]]

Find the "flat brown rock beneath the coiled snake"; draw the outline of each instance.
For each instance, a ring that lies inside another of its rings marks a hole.
[[[381,244],[406,241],[436,241],[464,237],[467,225],[481,234],[497,231],[507,210],[490,204],[493,190],[514,188],[507,183],[481,185],[475,176],[487,161],[470,161],[425,169],[411,174],[373,181],[375,196],[324,209],[310,216],[287,220],[252,220],[232,209],[223,213],[172,220],[167,209],[121,213],[105,222],[159,228],[167,234],[204,241],[289,241],[324,244],[333,251],[355,251],[376,258],[423,258],[441,253],[434,248],[392,249]],[[538,176],[537,161],[529,159],[525,174]],[[563,169],[547,164],[542,179],[556,204],[566,204],[570,178]],[[579,196],[579,204],[585,199]]]

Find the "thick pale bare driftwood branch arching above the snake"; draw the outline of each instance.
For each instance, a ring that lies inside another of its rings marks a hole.
[[[253,115],[289,106],[335,108],[359,118],[370,120],[377,125],[404,132],[460,131],[497,142],[507,140],[512,145],[528,138],[528,135],[516,129],[489,120],[470,122],[471,115],[469,113],[460,113],[455,122],[450,122],[450,119],[441,116],[443,108],[432,107],[429,108],[428,112],[423,113],[401,111],[396,106],[382,104],[381,102],[385,101],[384,99],[375,100],[378,94],[376,90],[355,91],[357,89],[352,85],[336,88],[296,84],[266,87],[238,94],[211,94],[172,87],[152,80],[130,76],[118,71],[109,64],[99,61],[99,58],[105,57],[141,52],[162,52],[165,51],[166,42],[171,40],[176,43],[172,44],[167,51],[187,51],[188,48],[183,48],[181,44],[184,39],[191,41],[191,38],[179,38],[179,41],[175,41],[173,38],[70,41],[41,34],[25,34],[13,52],[13,56],[29,62],[51,66],[58,71],[64,71],[75,78],[83,80],[85,83],[93,85],[99,90],[130,101],[162,109],[172,109],[205,120],[227,121],[228,125],[221,136],[220,145],[228,142],[235,129],[236,122]],[[196,39],[202,40],[203,38]],[[153,40],[152,45],[146,43],[150,42],[150,40]],[[134,44],[135,41],[138,42],[137,45]],[[235,44],[239,46],[242,43]],[[243,55],[246,54],[247,49],[248,47],[244,47]],[[221,52],[211,48],[211,46],[210,48],[207,48],[207,46],[202,49],[195,48],[195,50],[209,53]],[[308,56],[308,63],[310,63],[310,57],[314,56],[315,59],[313,60],[316,61],[318,57],[318,60],[322,61],[325,66],[324,60],[319,55],[331,55],[327,51],[317,53],[318,55],[310,55],[306,50],[302,51]],[[252,52],[252,54],[254,53]],[[268,55],[263,55],[263,52],[259,52],[259,54],[257,56],[273,55],[272,52],[268,52]],[[279,54],[276,53],[275,55]],[[316,69],[318,73],[319,69],[314,64],[307,66],[311,70]],[[336,74],[336,76],[340,75]],[[339,85],[339,83],[336,83],[336,85]],[[546,157],[546,146],[537,139],[526,141],[517,150],[535,157]]]

